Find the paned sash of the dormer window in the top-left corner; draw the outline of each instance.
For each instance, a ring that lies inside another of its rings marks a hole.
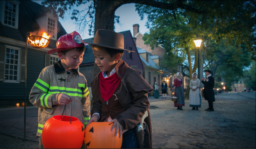
[[[5,1],[3,24],[17,28],[17,12],[18,7],[16,4]]]

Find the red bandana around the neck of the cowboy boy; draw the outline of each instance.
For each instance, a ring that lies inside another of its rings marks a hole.
[[[116,87],[120,83],[121,79],[116,73],[109,76],[108,78],[103,77],[103,73],[100,74],[99,84],[100,84],[100,95],[104,101],[108,101],[113,95]]]

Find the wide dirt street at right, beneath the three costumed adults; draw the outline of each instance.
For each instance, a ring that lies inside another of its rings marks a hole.
[[[151,102],[153,148],[255,148],[255,100],[236,93],[215,97],[215,112],[204,110],[206,100],[199,110],[185,101],[183,111],[171,100]]]

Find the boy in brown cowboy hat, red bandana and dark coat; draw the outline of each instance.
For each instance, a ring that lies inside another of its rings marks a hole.
[[[115,135],[119,131],[121,137],[123,133],[121,148],[152,148],[147,93],[153,88],[121,59],[123,52],[129,51],[124,49],[123,35],[114,31],[98,30],[93,43],[88,44],[92,45],[95,63],[101,70],[91,82],[94,102],[88,124],[111,119],[111,130],[116,127]],[[142,118],[145,112],[148,112],[148,117],[144,123]],[[140,127],[140,124],[145,126],[145,133],[142,134],[145,134],[145,140],[141,139],[142,135],[137,135],[140,130],[134,129]],[[128,131],[125,132],[124,129]],[[137,139],[142,141],[138,142]]]

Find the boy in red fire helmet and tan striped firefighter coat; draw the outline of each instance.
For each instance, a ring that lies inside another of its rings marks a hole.
[[[70,115],[76,117],[84,125],[90,120],[90,98],[87,81],[78,71],[83,61],[84,46],[80,35],[74,31],[61,36],[55,49],[47,54],[58,52],[61,59],[54,65],[45,67],[29,94],[29,101],[38,107],[39,148],[45,122],[54,115]],[[70,107],[72,102],[72,112]],[[67,106],[66,106],[67,105]]]

